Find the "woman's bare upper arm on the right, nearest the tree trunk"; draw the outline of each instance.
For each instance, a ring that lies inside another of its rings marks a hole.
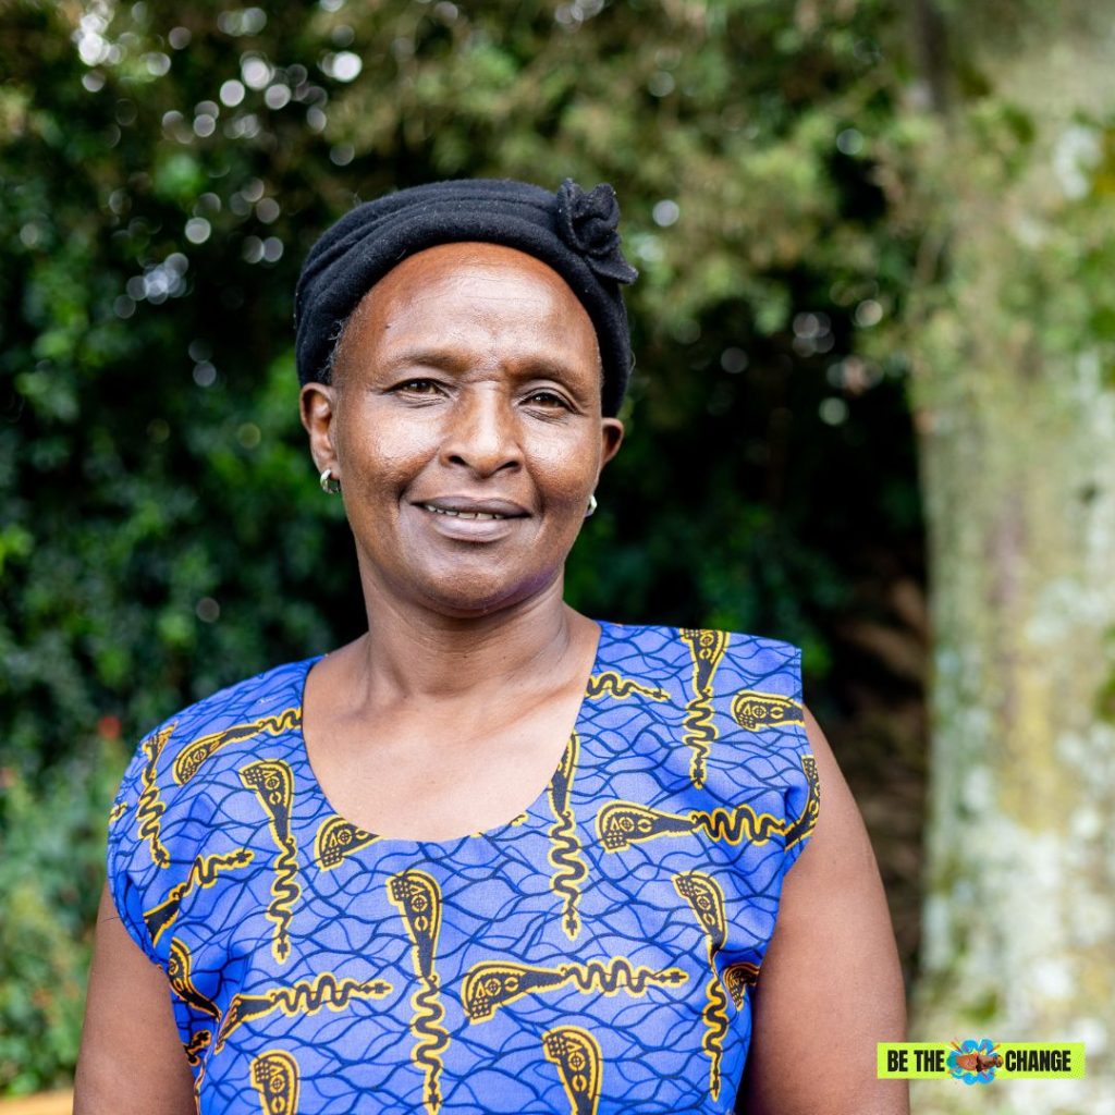
[[[905,997],[860,811],[812,714],[821,812],[786,874],[754,988],[747,1115],[906,1115],[905,1080],[875,1078],[875,1043],[905,1037]],[[750,991],[748,993],[752,993]]]

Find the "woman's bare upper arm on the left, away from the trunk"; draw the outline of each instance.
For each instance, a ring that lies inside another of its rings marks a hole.
[[[166,976],[100,898],[74,1115],[193,1115],[193,1077]]]

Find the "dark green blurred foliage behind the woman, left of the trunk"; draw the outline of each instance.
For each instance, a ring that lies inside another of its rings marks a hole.
[[[359,633],[291,293],[355,201],[434,178],[615,185],[637,376],[569,597],[805,648],[909,960],[902,33],[883,0],[0,3],[0,1090],[71,1070],[140,734]]]

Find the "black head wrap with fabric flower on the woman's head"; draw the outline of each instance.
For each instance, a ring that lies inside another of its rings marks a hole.
[[[503,178],[400,190],[345,214],[310,250],[294,293],[298,378],[329,380],[341,323],[396,264],[435,244],[485,241],[537,256],[589,311],[604,369],[603,413],[614,415],[631,374],[620,284],[638,271],[620,251],[620,207],[607,183],[585,193],[566,178],[552,194]]]

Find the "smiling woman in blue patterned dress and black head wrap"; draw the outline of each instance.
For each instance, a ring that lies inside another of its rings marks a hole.
[[[617,221],[610,186],[450,182],[311,252],[302,421],[368,630],[140,744],[79,1115],[728,1112],[741,1078],[750,1113],[906,1109],[796,648],[562,600],[622,439]]]

